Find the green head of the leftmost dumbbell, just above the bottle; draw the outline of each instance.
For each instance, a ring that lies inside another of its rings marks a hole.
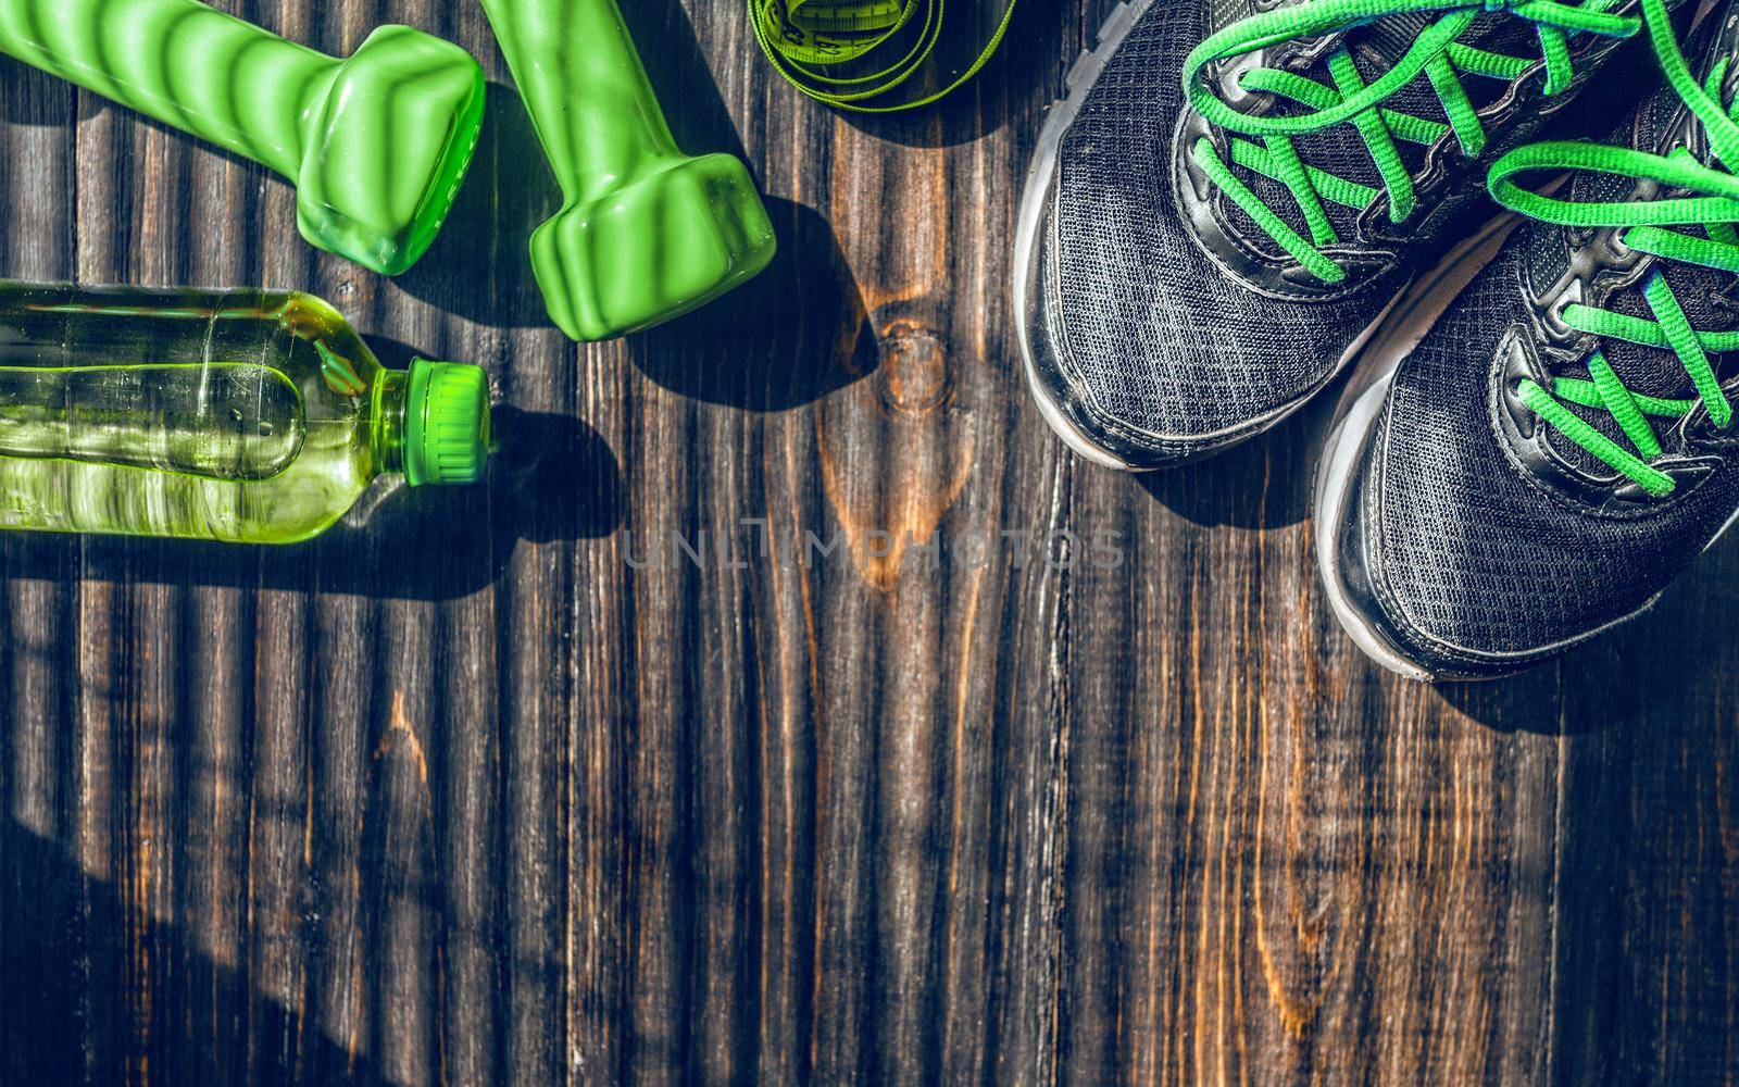
[[[483,71],[468,52],[383,26],[310,103],[296,177],[310,243],[386,275],[440,233],[483,123]]]

